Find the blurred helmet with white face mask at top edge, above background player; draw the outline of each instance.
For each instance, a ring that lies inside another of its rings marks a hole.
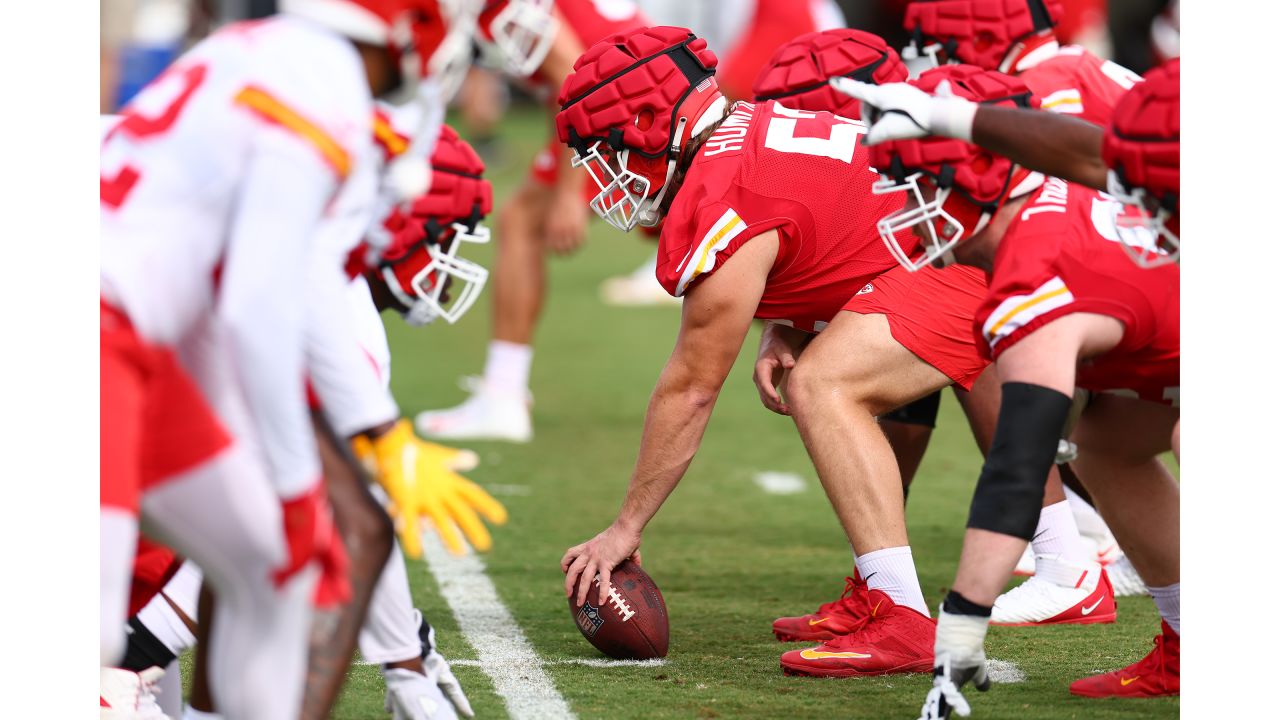
[[[489,0],[477,40],[493,64],[517,77],[534,74],[556,40],[553,0]]]

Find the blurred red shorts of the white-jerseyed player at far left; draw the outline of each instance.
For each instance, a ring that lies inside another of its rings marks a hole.
[[[138,498],[232,443],[168,347],[138,337],[102,302],[100,502],[137,515]]]

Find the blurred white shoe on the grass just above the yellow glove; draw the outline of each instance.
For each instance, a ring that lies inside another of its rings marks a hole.
[[[419,434],[433,439],[534,439],[534,424],[527,393],[499,392],[483,378],[462,378],[462,388],[471,397],[448,410],[424,410],[413,424]]]

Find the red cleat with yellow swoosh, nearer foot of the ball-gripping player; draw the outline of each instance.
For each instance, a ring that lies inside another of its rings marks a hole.
[[[932,671],[933,619],[895,605],[882,591],[868,591],[867,601],[870,610],[861,628],[818,647],[782,653],[782,671],[818,678]]]

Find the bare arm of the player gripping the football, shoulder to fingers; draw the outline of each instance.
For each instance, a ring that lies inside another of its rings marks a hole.
[[[777,252],[777,232],[753,238],[686,295],[676,347],[645,413],[640,456],[622,509],[604,532],[568,548],[561,559],[564,594],[573,594],[576,587],[579,605],[586,600],[596,573],[599,602],[604,602],[609,573],[637,552],[645,525],[689,469],[751,327]]]

